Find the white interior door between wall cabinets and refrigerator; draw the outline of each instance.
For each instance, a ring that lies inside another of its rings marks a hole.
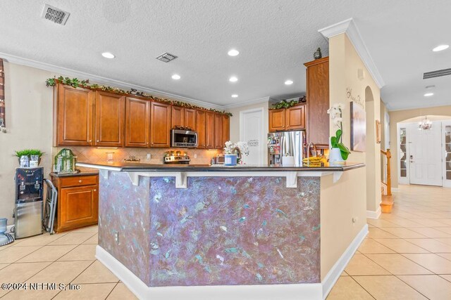
[[[249,155],[243,155],[245,164],[264,163],[263,108],[240,112],[240,141],[249,145]]]

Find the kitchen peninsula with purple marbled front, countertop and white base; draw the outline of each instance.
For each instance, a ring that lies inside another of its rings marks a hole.
[[[364,164],[78,166],[99,169],[97,259],[140,299],[323,298],[368,230]]]

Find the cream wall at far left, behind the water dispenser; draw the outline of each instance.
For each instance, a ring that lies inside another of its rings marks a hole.
[[[52,91],[45,80],[54,74],[44,70],[4,62],[7,133],[0,133],[0,217],[13,223],[14,174],[18,159],[15,150],[37,148],[42,157],[44,176],[51,162]]]

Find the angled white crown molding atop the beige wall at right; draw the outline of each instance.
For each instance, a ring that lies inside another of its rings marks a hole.
[[[323,29],[318,30],[318,32],[321,33],[326,40],[329,40],[331,37],[335,37],[338,34],[347,34],[347,37],[350,39],[352,45],[354,45],[355,50],[362,59],[366,69],[368,69],[368,72],[371,74],[371,77],[373,77],[376,85],[379,89],[385,86],[381,73],[379,73],[373,58],[371,58],[368,48],[366,48],[364,40],[362,39],[362,35],[352,18],[324,27]]]

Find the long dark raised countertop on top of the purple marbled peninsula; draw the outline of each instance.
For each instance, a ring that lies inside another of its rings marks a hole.
[[[115,162],[113,164],[92,164],[89,162],[78,162],[77,167],[94,169],[108,169],[111,171],[125,172],[239,172],[239,171],[348,171],[365,167],[364,163],[347,162],[345,165],[330,165],[328,163],[314,164],[302,167],[271,167],[268,165],[222,166],[209,164],[144,164],[137,162]]]

